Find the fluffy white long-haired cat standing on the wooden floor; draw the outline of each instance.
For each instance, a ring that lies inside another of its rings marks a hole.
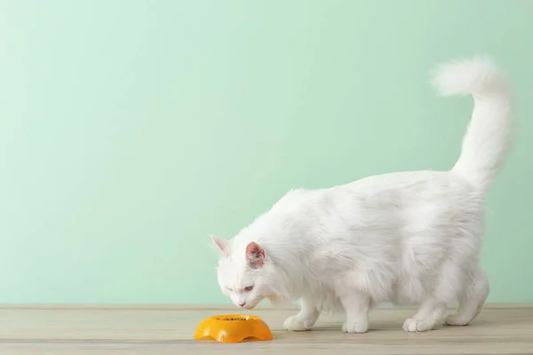
[[[366,332],[370,307],[385,301],[419,305],[403,324],[410,332],[434,328],[457,303],[449,325],[477,316],[489,294],[479,265],[483,205],[511,140],[511,95],[487,58],[439,67],[434,84],[474,99],[453,169],[290,191],[235,238],[212,236],[220,288],[235,304],[301,299],[289,330],[310,329],[322,310],[341,306],[347,333]]]

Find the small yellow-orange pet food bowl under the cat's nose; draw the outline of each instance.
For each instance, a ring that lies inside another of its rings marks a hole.
[[[272,332],[259,317],[220,314],[204,319],[196,328],[195,339],[208,338],[219,343],[272,340]]]

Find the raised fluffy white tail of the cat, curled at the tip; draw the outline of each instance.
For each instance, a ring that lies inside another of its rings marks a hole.
[[[510,146],[513,114],[505,75],[489,58],[438,67],[434,85],[443,96],[473,96],[472,120],[452,171],[486,191]]]

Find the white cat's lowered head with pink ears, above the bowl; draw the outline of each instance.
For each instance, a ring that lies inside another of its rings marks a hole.
[[[274,265],[258,243],[235,245],[211,236],[220,251],[219,286],[234,304],[251,310],[264,298],[275,298],[272,285]]]

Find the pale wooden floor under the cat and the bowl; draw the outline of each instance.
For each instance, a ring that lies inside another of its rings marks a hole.
[[[229,309],[233,312],[234,309]],[[274,340],[224,344],[192,339],[196,325],[220,307],[0,307],[0,354],[533,354],[533,306],[487,306],[468,327],[406,333],[412,311],[372,312],[370,332],[347,335],[339,319],[322,316],[310,332],[282,331],[294,310],[251,314],[272,328]]]

